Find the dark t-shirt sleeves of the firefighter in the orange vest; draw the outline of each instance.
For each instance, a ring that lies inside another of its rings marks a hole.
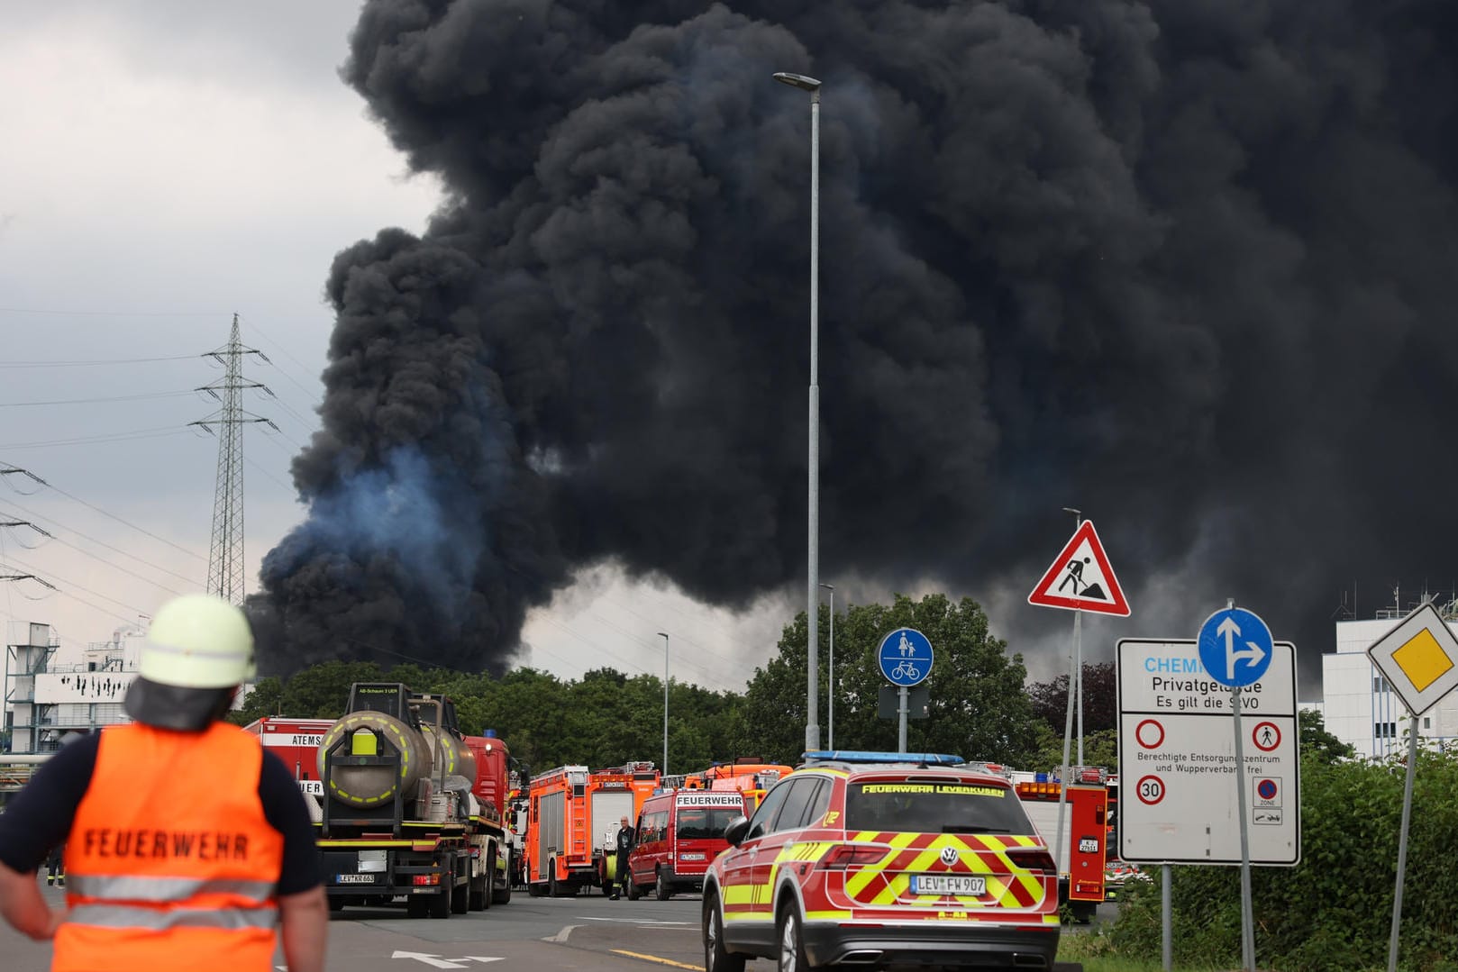
[[[22,874],[35,871],[50,850],[66,841],[76,809],[90,787],[99,748],[101,733],[92,733],[67,743],[41,764],[31,783],[0,813],[0,863]],[[268,825],[283,835],[278,893],[296,895],[322,883],[309,809],[289,768],[267,749],[258,772],[258,799]]]

